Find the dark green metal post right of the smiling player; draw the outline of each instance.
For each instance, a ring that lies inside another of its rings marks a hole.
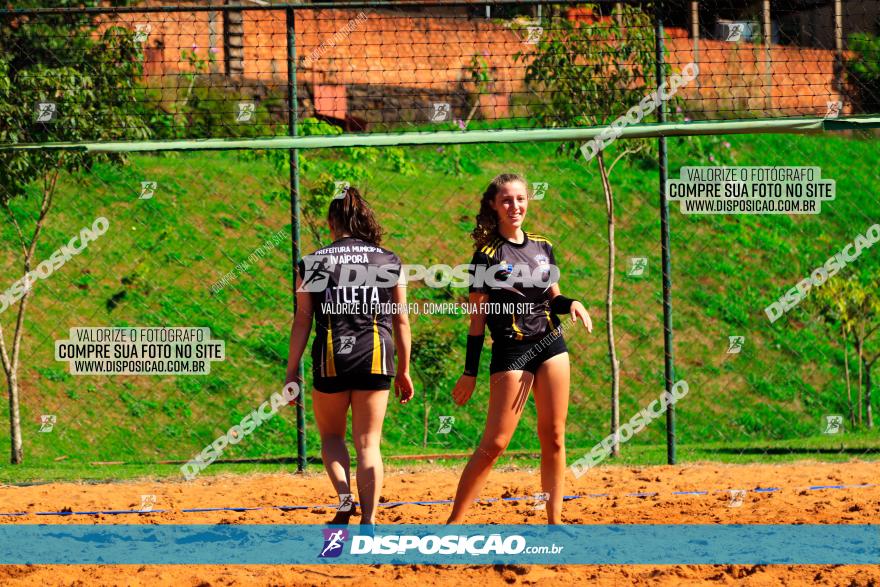
[[[654,49],[657,65],[657,91],[659,92],[660,87],[666,82],[663,56],[664,0],[657,0],[654,8]],[[657,117],[661,124],[666,122],[666,104],[662,100],[657,107]],[[668,158],[666,137],[661,135],[657,141],[660,179],[660,251],[663,265],[663,367],[666,392],[671,394],[675,379],[675,366],[672,361],[672,281],[670,277],[672,268],[669,247],[669,203],[666,201]],[[670,465],[675,464],[675,404],[672,402],[669,402],[666,408],[666,461]]]

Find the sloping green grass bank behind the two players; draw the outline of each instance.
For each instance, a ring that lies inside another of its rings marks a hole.
[[[677,407],[680,455],[724,460],[738,457],[705,447],[791,446],[792,458],[800,458],[797,443],[812,442],[805,439],[819,433],[825,414],[846,413],[843,354],[837,338],[804,307],[772,325],[763,308],[877,221],[880,153],[876,142],[839,135],[730,136],[701,139],[700,147],[701,154],[694,154],[680,140],[670,140],[671,177],[682,165],[709,164],[712,154],[738,165],[819,165],[823,177],[837,181],[837,199],[826,203],[819,216],[671,212],[676,376],[686,379],[691,390]],[[465,171],[449,174],[456,152]],[[530,204],[526,227],[553,241],[563,292],[583,300],[593,316],[593,335],[573,331],[567,336],[572,353],[568,443],[592,446],[607,434],[609,388],[605,203],[595,164],[565,159],[553,144],[467,145],[442,153],[435,147],[408,147],[406,156],[414,174],[396,172],[380,156],[363,187],[386,229],[383,244],[408,263],[469,261],[468,232],[479,196],[497,173],[521,171],[530,181],[550,183],[545,198]],[[319,175],[343,154],[322,151],[303,157],[308,167],[302,187],[309,198]],[[152,200],[137,199],[143,180],[158,181]],[[97,166],[89,175],[61,177],[37,257],[47,258],[98,215],[106,216],[111,227],[36,288],[20,373],[25,458],[33,468],[7,473],[10,468],[3,467],[0,478],[44,478],[40,471],[63,476],[65,470],[69,478],[89,478],[90,473],[116,478],[129,476],[128,471],[162,470],[147,465],[143,470],[93,469],[87,463],[189,459],[268,399],[280,386],[287,357],[289,245],[251,263],[218,294],[211,293],[211,285],[279,229],[289,230],[288,204],[278,196],[285,182],[286,176],[268,162],[233,152],[137,156],[126,167]],[[625,421],[662,391],[656,165],[621,164],[612,184],[618,247],[615,330]],[[36,201],[34,187],[27,201],[14,206],[33,217]],[[302,236],[306,252],[323,244],[317,238],[326,238],[323,220],[306,218]],[[0,226],[0,240],[8,251],[0,261],[3,274],[17,275],[8,223]],[[649,259],[646,278],[626,275],[631,256]],[[867,250],[852,267],[876,272],[880,250]],[[410,301],[463,301],[466,292],[412,287],[409,296]],[[12,320],[11,311],[0,315],[7,341]],[[102,325],[209,326],[214,338],[226,342],[227,359],[214,363],[210,375],[177,378],[72,376],[66,363],[54,361],[53,341],[66,338],[69,328]],[[466,452],[479,438],[488,349],[471,403],[458,408],[449,397],[463,362],[466,330],[461,316],[414,317],[417,342],[445,343],[452,351],[431,361],[414,358],[418,395],[405,407],[392,402],[386,454]],[[746,337],[741,354],[726,354],[729,335]],[[305,367],[308,373],[308,359]],[[3,402],[0,420],[7,419],[6,410]],[[57,416],[51,433],[38,432],[40,414]],[[439,415],[455,416],[452,434],[436,433]],[[316,455],[310,411],[307,430],[310,454]],[[664,462],[664,434],[662,422],[653,423],[624,447],[623,462]],[[876,429],[863,427],[858,434],[876,446]],[[293,409],[287,408],[224,456],[290,456],[295,435]],[[530,404],[511,450],[537,448]],[[752,456],[788,458],[766,452]],[[61,457],[66,460],[56,463]]]

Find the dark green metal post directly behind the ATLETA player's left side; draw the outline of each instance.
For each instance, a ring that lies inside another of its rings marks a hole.
[[[296,97],[296,19],[293,8],[284,11],[287,24],[287,127],[288,134],[296,135],[297,97]],[[290,244],[292,248],[293,267],[293,314],[296,316],[296,265],[300,256],[299,238],[299,150],[290,149]],[[297,367],[300,381],[300,393],[296,398],[296,469],[302,473],[306,470],[306,417],[303,386],[302,360]]]

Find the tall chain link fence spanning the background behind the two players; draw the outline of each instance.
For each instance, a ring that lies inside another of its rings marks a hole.
[[[602,126],[626,114],[633,96],[656,89],[658,12],[666,74],[688,64],[699,72],[666,101],[667,120],[877,113],[875,5],[774,3],[769,14],[760,3],[735,5],[7,10],[0,14],[0,142],[288,135],[294,95],[297,134]],[[641,121],[656,120],[651,111]],[[676,406],[684,459],[876,452],[870,367],[878,252],[860,246],[837,275],[812,281],[796,308],[772,322],[765,312],[859,235],[870,241],[864,235],[878,219],[875,140],[868,131],[669,139],[670,178],[682,166],[802,166],[836,181],[836,197],[820,214],[684,214],[671,204],[675,378],[690,389]],[[609,182],[624,423],[664,389],[656,153],[643,142],[641,152],[628,153],[640,143],[618,141],[605,155],[609,165],[622,156]],[[468,234],[486,184],[501,172],[527,177],[526,229],[553,242],[563,293],[581,299],[595,325],[592,335],[582,328],[565,335],[570,461],[608,435],[611,389],[606,199],[597,163],[585,163],[579,146],[320,149],[301,152],[297,169],[300,253],[329,242],[327,204],[345,181],[376,210],[384,246],[426,266],[469,262]],[[0,158],[7,170],[0,172],[3,291],[24,274],[35,226],[29,268],[96,218],[108,222],[100,238],[32,285],[20,328],[19,303],[0,313],[8,365],[21,333],[15,385],[26,461],[185,462],[280,390],[296,230],[288,153],[123,158],[44,149],[4,150]],[[426,304],[464,302],[467,291],[413,283],[408,295],[425,309],[411,316],[416,397],[407,406],[391,402],[384,452],[465,454],[485,420],[488,350],[473,399],[455,406],[450,390],[464,361],[467,316],[432,313]],[[225,358],[205,375],[73,375],[56,360],[55,341],[87,326],[210,328]],[[304,361],[309,374],[308,353]],[[309,382],[307,375],[314,456]],[[0,408],[4,420],[8,409]],[[530,403],[511,451],[536,453],[535,429]],[[665,432],[660,422],[646,426],[623,457],[663,462]],[[296,434],[294,407],[281,407],[221,458],[292,459]]]

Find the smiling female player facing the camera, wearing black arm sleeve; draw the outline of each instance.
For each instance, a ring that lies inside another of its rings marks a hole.
[[[458,482],[448,524],[461,523],[479,496],[516,430],[533,385],[541,486],[549,494],[547,521],[562,522],[569,363],[557,315],[570,315],[572,323],[582,321],[590,332],[593,324],[583,304],[563,296],[558,283],[549,285],[552,279],[513,279],[524,273],[546,276],[555,270],[550,241],[522,228],[527,209],[525,179],[517,174],[499,175],[483,193],[471,235],[476,249],[471,263],[478,270],[473,271],[475,282],[470,287],[472,312],[464,373],[452,395],[455,403],[464,405],[474,392],[488,326],[492,335],[489,409],[483,437]],[[518,271],[513,271],[514,265]],[[480,279],[480,267],[488,268],[485,280]]]

